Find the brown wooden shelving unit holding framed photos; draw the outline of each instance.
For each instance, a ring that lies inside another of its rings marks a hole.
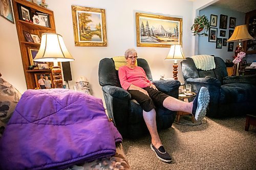
[[[51,11],[51,10],[40,7],[34,3],[31,3],[31,2],[28,2],[25,0],[12,0],[12,5],[13,5],[14,18],[15,18],[15,23],[16,23],[20,53],[22,55],[23,69],[24,69],[24,73],[25,73],[27,88],[34,89],[36,87],[34,74],[41,73],[41,72],[51,72],[51,70],[50,69],[29,70],[28,69],[28,67],[31,65],[30,60],[29,60],[28,47],[35,48],[35,49],[39,50],[40,44],[34,43],[34,42],[28,42],[24,36],[23,31],[27,31],[30,34],[36,34],[40,38],[41,38],[42,33],[45,33],[45,32],[56,33],[54,14],[53,14],[53,11]],[[30,9],[31,15],[32,15],[32,16],[30,16],[31,20],[32,20],[33,14],[35,14],[35,12],[48,14],[49,15],[48,22],[49,22],[50,27],[35,25],[34,23],[30,23],[28,21],[19,19],[20,16],[19,16],[18,8],[20,6],[24,6],[27,9]]]

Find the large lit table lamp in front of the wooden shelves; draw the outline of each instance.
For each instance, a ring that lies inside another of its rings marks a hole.
[[[53,62],[52,75],[55,88],[62,88],[61,69],[58,62],[73,61],[63,38],[56,33],[43,33],[41,44],[34,61]]]

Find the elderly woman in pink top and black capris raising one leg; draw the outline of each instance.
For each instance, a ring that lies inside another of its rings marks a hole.
[[[172,157],[165,151],[157,132],[156,106],[173,111],[188,112],[193,114],[196,120],[201,120],[206,114],[209,92],[207,88],[202,87],[195,100],[190,103],[175,99],[158,91],[156,86],[146,77],[143,68],[135,65],[137,52],[134,49],[126,50],[124,57],[127,64],[119,68],[120,84],[131,94],[132,99],[135,99],[143,108],[143,118],[152,137],[151,149],[160,160],[170,162]]]

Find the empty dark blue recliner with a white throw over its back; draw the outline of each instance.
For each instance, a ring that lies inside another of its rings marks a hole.
[[[224,117],[251,114],[256,105],[256,75],[227,77],[224,61],[215,57],[216,68],[197,69],[192,58],[181,62],[185,84],[191,84],[198,92],[200,87],[207,87],[210,93],[206,116]]]

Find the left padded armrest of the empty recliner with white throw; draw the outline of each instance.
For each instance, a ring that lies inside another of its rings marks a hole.
[[[186,80],[186,82],[187,84],[221,86],[221,82],[216,78],[189,78]]]

